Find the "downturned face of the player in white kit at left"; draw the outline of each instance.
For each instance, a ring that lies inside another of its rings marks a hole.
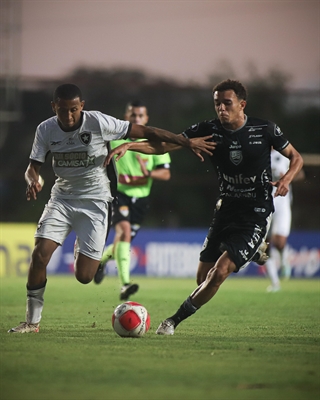
[[[84,106],[84,101],[80,101],[79,97],[73,100],[58,99],[56,102],[51,102],[51,106],[64,131],[74,131],[79,128]]]

